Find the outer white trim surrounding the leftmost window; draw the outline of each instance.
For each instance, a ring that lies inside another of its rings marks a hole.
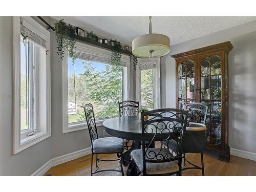
[[[50,50],[50,32],[33,18],[23,18],[30,30],[47,40],[46,48]],[[26,134],[27,130],[20,130],[20,17],[13,17],[13,154],[17,154],[51,136],[50,58],[49,51],[46,58],[46,131],[38,131],[32,136],[22,139],[21,134]]]

